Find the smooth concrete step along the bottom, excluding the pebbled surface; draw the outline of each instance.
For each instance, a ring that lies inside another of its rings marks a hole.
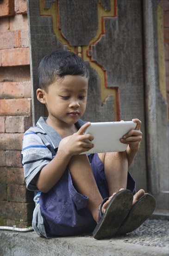
[[[95,240],[85,236],[46,239],[33,231],[0,232],[1,256],[168,256],[168,247],[132,243],[128,236]],[[134,241],[133,241],[134,242]]]

